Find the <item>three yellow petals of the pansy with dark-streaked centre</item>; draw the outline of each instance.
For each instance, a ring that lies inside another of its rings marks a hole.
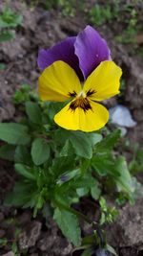
[[[109,111],[98,102],[119,93],[122,71],[112,60],[101,61],[82,83],[74,70],[61,60],[45,68],[39,78],[40,98],[52,102],[71,100],[54,116],[54,122],[62,128],[83,131],[103,128],[109,120]]]

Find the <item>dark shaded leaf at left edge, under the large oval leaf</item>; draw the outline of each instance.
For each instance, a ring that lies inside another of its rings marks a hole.
[[[15,147],[11,145],[4,145],[0,147],[0,158],[13,161],[14,151],[15,151]]]

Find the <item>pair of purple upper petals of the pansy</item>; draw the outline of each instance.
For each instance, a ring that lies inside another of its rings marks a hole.
[[[86,80],[101,61],[110,60],[106,41],[91,27],[71,36],[48,50],[40,50],[38,66],[44,70],[56,60],[63,60],[76,72],[80,81]]]

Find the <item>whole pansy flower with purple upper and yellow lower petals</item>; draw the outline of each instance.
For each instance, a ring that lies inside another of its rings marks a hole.
[[[54,116],[58,126],[88,132],[106,125],[109,111],[98,102],[119,93],[122,71],[91,26],[50,50],[41,50],[38,65],[44,69],[39,78],[41,100],[71,100]]]

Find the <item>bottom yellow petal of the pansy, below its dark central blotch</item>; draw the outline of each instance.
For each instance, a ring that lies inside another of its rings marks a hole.
[[[90,101],[92,109],[86,111],[80,107],[72,110],[70,105],[54,116],[54,122],[62,128],[88,132],[103,128],[109,120],[109,111],[103,105]]]

